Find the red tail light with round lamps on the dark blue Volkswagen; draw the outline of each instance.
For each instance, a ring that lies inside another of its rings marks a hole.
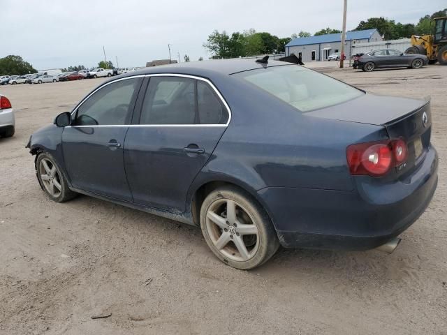
[[[346,158],[351,174],[381,177],[404,163],[407,153],[406,143],[398,139],[350,145]]]

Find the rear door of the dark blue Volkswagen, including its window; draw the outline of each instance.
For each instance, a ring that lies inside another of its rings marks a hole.
[[[152,76],[136,121],[124,143],[134,202],[184,212],[189,186],[228,126],[228,105],[203,78]]]

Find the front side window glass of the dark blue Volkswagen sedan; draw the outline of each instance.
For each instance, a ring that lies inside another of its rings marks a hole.
[[[112,82],[96,91],[78,107],[75,126],[111,126],[129,124],[131,101],[140,78]]]

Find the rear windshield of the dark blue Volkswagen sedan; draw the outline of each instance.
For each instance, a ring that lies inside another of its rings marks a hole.
[[[302,66],[272,66],[235,74],[295,107],[310,112],[337,105],[364,93]]]

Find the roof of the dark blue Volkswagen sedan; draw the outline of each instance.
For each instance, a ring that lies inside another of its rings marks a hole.
[[[233,73],[255,70],[270,66],[295,65],[285,61],[268,61],[268,64],[256,62],[256,59],[219,59],[210,61],[189,61],[180,64],[169,64],[143,68],[142,70],[124,73],[119,77],[131,77],[134,75],[149,75],[175,73],[184,75],[197,75],[199,77],[213,77],[216,75],[231,75]]]

